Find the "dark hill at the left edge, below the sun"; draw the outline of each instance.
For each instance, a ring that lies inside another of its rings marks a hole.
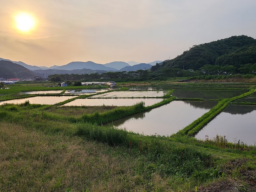
[[[12,63],[11,61],[0,60],[0,78],[30,78],[33,76],[32,71],[21,65]]]

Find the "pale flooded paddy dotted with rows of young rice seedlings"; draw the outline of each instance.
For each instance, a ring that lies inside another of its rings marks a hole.
[[[104,94],[94,95],[91,98],[143,98],[163,97],[169,91],[113,91]]]

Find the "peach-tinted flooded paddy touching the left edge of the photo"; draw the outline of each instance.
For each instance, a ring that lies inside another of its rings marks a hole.
[[[72,99],[74,97],[76,96],[37,96],[23,99],[0,101],[0,105],[3,105],[4,103],[21,104],[25,103],[25,101],[29,101],[30,104],[54,105],[65,100]]]

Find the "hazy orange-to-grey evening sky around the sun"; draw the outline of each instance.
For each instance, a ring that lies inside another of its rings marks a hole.
[[[175,58],[195,44],[256,38],[255,0],[0,0],[0,58],[29,65]],[[26,12],[36,27],[21,33]]]

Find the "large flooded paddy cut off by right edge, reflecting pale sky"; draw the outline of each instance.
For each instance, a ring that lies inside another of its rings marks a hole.
[[[239,110],[240,109],[240,110]],[[223,112],[207,124],[197,135],[198,139],[205,139],[208,135],[213,139],[217,134],[226,136],[229,142],[234,139],[249,145],[256,142],[256,106],[229,105]]]

